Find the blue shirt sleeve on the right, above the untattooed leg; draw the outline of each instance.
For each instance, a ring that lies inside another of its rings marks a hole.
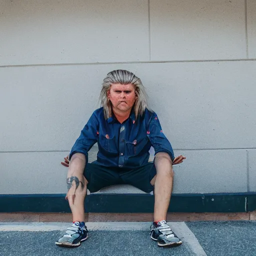
[[[154,148],[155,154],[158,152],[166,152],[171,160],[174,160],[174,153],[169,140],[162,132],[161,124],[156,113],[153,113],[147,127],[148,138]]]

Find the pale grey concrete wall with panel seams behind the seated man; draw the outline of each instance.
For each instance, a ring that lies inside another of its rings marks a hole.
[[[59,162],[117,68],[187,157],[175,193],[256,191],[256,0],[0,0],[0,193],[66,191]]]

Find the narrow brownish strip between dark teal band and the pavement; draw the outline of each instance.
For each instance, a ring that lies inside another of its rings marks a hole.
[[[204,220],[256,220],[253,212],[173,212],[167,214],[167,221]],[[152,213],[85,213],[86,222],[151,222]],[[71,213],[0,213],[0,222],[72,222]]]

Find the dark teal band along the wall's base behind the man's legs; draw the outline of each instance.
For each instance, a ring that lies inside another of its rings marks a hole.
[[[65,194],[0,194],[0,212],[69,213]],[[147,193],[86,196],[85,212],[152,213],[154,196]],[[256,210],[256,193],[172,194],[168,212],[249,212]]]

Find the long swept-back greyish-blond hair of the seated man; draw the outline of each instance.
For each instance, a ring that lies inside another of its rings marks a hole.
[[[111,102],[107,98],[107,91],[110,89],[111,84],[120,83],[120,84],[133,84],[135,88],[136,100],[134,103],[134,112],[135,118],[137,119],[138,115],[142,115],[147,106],[147,95],[145,88],[141,80],[132,72],[127,70],[113,70],[107,73],[106,77],[103,79],[102,88],[99,94],[100,105],[103,107],[105,119],[112,116],[112,107]]]

